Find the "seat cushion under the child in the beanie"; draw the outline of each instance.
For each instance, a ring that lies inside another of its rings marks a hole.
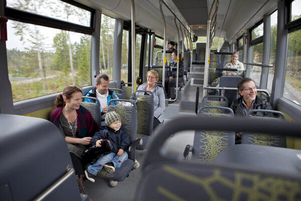
[[[133,169],[134,161],[131,159],[127,159],[122,163],[119,169],[116,169],[114,173],[110,174],[107,171],[104,170],[104,168],[101,169],[100,172],[97,173],[98,177],[102,177],[105,179],[111,179],[114,181],[122,181],[125,179],[127,174]]]

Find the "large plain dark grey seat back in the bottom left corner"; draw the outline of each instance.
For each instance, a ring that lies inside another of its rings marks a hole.
[[[58,179],[45,200],[81,200],[66,141],[51,122],[0,114],[1,200],[33,200]]]

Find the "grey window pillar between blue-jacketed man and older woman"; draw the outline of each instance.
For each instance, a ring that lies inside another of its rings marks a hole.
[[[121,48],[122,48],[123,20],[115,20],[114,44],[113,44],[113,80],[116,88],[120,88],[121,79]]]

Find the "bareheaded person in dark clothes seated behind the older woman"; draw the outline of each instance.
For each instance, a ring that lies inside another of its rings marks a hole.
[[[177,84],[177,55],[178,52],[172,53],[172,61],[170,62],[170,68],[168,68],[167,76],[165,78],[165,89],[169,98],[174,99],[174,94],[172,94],[171,87],[176,87]],[[182,60],[182,55],[179,54],[179,83],[184,83],[184,62]]]

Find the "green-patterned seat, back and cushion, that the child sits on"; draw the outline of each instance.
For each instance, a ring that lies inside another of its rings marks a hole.
[[[134,107],[110,105],[107,112],[115,111],[121,118],[121,124],[125,128],[125,132],[129,135],[129,141],[132,143],[136,140],[137,131],[137,113]],[[122,181],[132,170],[134,165],[134,151],[128,152],[128,159],[124,161],[121,167],[110,174],[102,169],[97,176],[112,179],[114,181]]]

